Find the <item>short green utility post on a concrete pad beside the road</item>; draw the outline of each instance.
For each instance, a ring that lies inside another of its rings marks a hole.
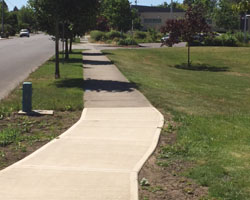
[[[32,83],[23,83],[23,112],[30,113],[32,111]]]

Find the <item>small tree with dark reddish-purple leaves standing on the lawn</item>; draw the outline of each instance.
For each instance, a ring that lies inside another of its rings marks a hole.
[[[179,38],[187,42],[188,46],[188,67],[190,62],[190,44],[200,34],[208,34],[210,27],[204,17],[204,7],[202,5],[189,6],[184,19],[168,20],[166,25],[161,28],[163,33],[169,32],[168,44],[171,46],[176,43]]]

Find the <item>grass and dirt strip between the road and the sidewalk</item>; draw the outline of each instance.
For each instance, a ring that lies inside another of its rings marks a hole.
[[[0,101],[0,169],[43,146],[70,128],[83,109],[82,50],[60,61],[61,79],[54,79],[54,57],[26,81],[33,84],[33,109],[54,110],[54,116],[19,116],[22,85]]]

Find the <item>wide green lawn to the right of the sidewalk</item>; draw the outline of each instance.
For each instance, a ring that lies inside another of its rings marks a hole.
[[[250,199],[250,48],[192,47],[105,51],[178,127],[165,162],[194,164],[185,175],[209,198]],[[166,156],[164,156],[166,155]]]

